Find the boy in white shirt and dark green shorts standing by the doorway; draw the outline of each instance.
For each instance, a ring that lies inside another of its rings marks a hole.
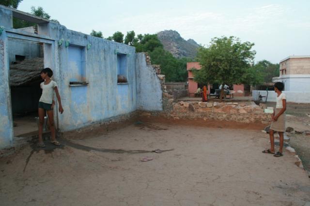
[[[42,133],[43,133],[43,123],[44,123],[44,117],[47,113],[48,116],[48,123],[49,123],[49,129],[51,133],[51,140],[50,142],[54,145],[59,146],[60,143],[56,140],[55,135],[55,127],[54,127],[54,91],[56,93],[56,97],[59,103],[59,112],[62,114],[62,102],[61,98],[58,92],[57,84],[53,80],[51,80],[51,77],[53,75],[53,71],[50,68],[45,68],[41,71],[41,77],[44,79],[44,82],[40,84],[40,87],[42,88],[42,95],[39,100],[39,147],[45,147],[45,144],[43,143]]]

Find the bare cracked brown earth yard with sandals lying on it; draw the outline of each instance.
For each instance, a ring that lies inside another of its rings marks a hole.
[[[152,123],[62,143],[64,147],[50,152],[34,151],[26,168],[30,146],[0,159],[1,206],[303,206],[310,202],[307,172],[294,164],[294,156],[286,150],[280,158],[263,154],[268,136],[260,131]],[[149,152],[157,148],[170,151]],[[143,157],[153,161],[140,162]]]

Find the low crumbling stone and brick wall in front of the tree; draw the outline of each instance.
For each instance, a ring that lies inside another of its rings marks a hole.
[[[268,124],[271,120],[271,114],[264,113],[263,108],[247,103],[177,102],[172,103],[171,110],[166,111],[165,116],[168,118],[200,118],[262,124]]]

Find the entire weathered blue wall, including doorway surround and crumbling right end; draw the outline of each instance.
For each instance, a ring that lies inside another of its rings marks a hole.
[[[2,10],[5,9],[0,7],[0,19]],[[0,26],[1,23],[2,20]],[[53,22],[39,24],[38,33],[5,28],[0,36],[0,52],[3,54],[0,55],[0,122],[4,123],[0,124],[0,147],[8,146],[13,138],[6,49],[8,37],[44,43],[44,64],[53,70],[53,79],[62,97],[64,113],[57,112],[58,106],[54,111],[56,126],[61,132],[137,109],[162,110],[160,82],[152,67],[145,63],[145,55],[135,53],[135,47],[69,30]],[[58,44],[62,39],[70,40],[68,47]],[[92,46],[87,49],[87,45]],[[119,65],[118,54],[123,54]],[[118,84],[118,73],[124,73],[128,83]],[[69,85],[72,80],[89,84],[72,87]]]

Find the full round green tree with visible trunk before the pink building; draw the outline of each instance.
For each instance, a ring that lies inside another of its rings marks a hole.
[[[253,43],[241,43],[236,37],[213,38],[209,47],[198,49],[198,60],[202,69],[194,71],[194,80],[200,84],[239,84],[247,82],[245,75],[249,70],[256,52],[251,50]],[[222,87],[220,99],[224,95]]]

